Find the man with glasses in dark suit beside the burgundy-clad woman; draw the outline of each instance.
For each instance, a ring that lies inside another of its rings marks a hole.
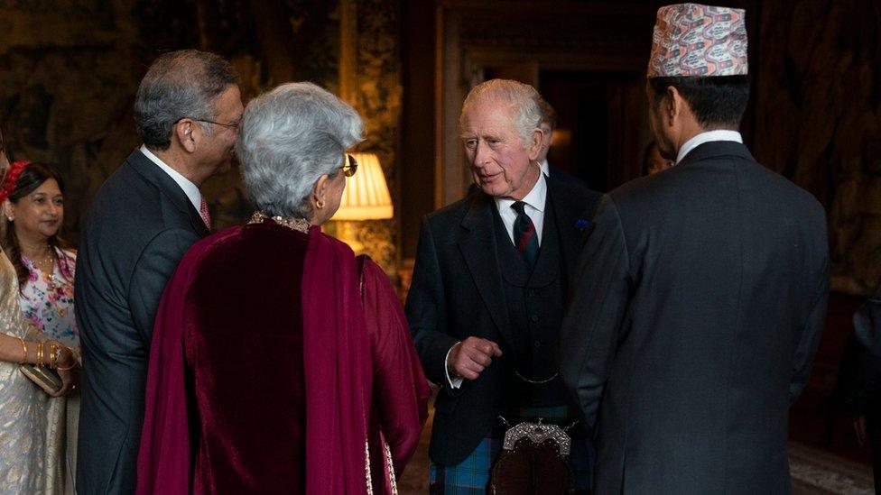
[[[197,50],[153,62],[134,105],[144,145],[98,190],[77,257],[79,493],[134,492],[153,317],[209,233],[199,186],[229,166],[243,111],[228,62]]]

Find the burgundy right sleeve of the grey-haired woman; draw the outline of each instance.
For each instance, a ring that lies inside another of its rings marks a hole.
[[[428,417],[429,388],[407,331],[394,287],[376,263],[366,260],[363,300],[374,368],[373,399],[385,441],[400,475]]]

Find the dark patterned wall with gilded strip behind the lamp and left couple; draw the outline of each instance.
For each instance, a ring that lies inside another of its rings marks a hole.
[[[401,108],[399,5],[357,8],[357,101],[364,151],[376,151],[396,198]],[[64,234],[76,243],[89,198],[138,145],[132,104],[144,71],[167,50],[220,53],[243,99],[288,80],[339,90],[342,0],[77,0],[0,2],[0,122],[14,158],[42,161],[67,183]],[[217,228],[252,213],[235,168],[203,187]],[[394,221],[359,225],[394,272]],[[329,231],[333,232],[329,225]]]

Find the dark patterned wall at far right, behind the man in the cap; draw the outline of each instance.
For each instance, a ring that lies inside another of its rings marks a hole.
[[[832,290],[870,295],[881,280],[881,5],[787,0],[761,13],[756,159],[826,206]]]

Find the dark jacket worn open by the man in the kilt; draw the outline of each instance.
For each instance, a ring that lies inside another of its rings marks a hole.
[[[592,215],[599,194],[553,179],[547,184],[563,266],[571,270],[582,239],[575,222]],[[461,462],[488,435],[501,407],[503,380],[513,377],[504,355],[459,390],[450,390],[444,372],[450,347],[468,336],[494,341],[503,353],[509,350],[495,208],[494,199],[477,190],[422,219],[406,313],[425,375],[440,385],[429,453],[435,463]]]

